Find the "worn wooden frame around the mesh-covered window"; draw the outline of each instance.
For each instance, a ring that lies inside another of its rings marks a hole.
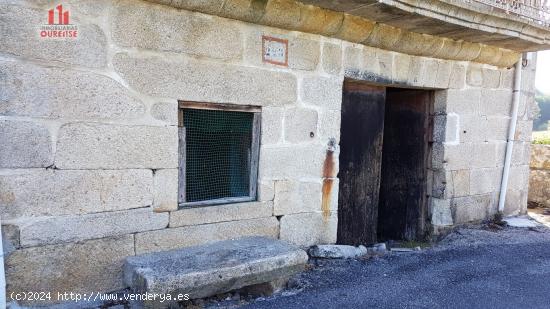
[[[183,109],[218,110],[252,113],[252,141],[250,145],[249,195],[205,201],[186,202],[186,132]],[[260,162],[261,107],[226,103],[178,101],[178,208],[214,206],[253,202],[258,199],[258,170]]]

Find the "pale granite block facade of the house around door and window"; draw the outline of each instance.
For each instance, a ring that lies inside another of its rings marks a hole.
[[[349,80],[430,91],[428,234],[494,215],[513,65],[548,46],[549,29],[476,7],[490,29],[474,29],[472,13],[460,27],[486,36],[469,41],[376,20],[408,12],[398,4],[362,15],[355,1],[305,2],[67,0],[78,36],[59,39],[39,33],[59,3],[0,1],[8,292],[116,291],[127,256],[248,235],[335,243]],[[287,42],[286,65],[264,61],[266,36]],[[523,69],[507,215],[526,211],[535,63]],[[183,101],[259,108],[252,201],[179,205]]]

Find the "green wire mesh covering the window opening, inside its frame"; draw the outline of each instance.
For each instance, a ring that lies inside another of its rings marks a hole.
[[[250,195],[253,114],[183,109],[186,202]]]

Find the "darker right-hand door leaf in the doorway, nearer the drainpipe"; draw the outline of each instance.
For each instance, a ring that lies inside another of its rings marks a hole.
[[[431,92],[388,88],[378,238],[419,239],[427,194]]]

